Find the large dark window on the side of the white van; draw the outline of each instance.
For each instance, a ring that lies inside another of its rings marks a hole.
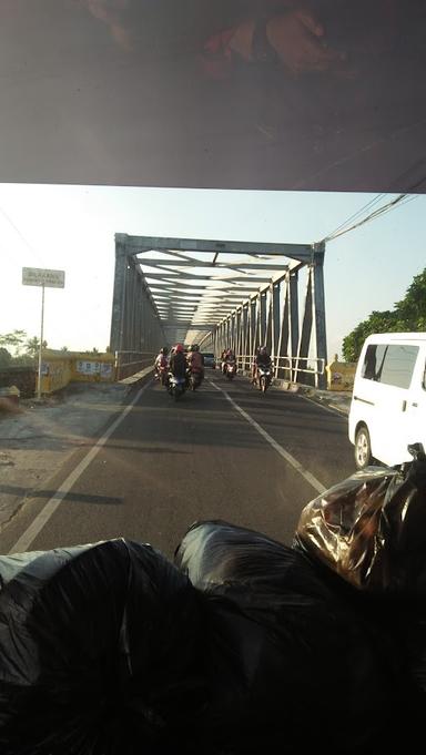
[[[371,344],[364,357],[362,377],[397,388],[409,388],[418,346]]]

